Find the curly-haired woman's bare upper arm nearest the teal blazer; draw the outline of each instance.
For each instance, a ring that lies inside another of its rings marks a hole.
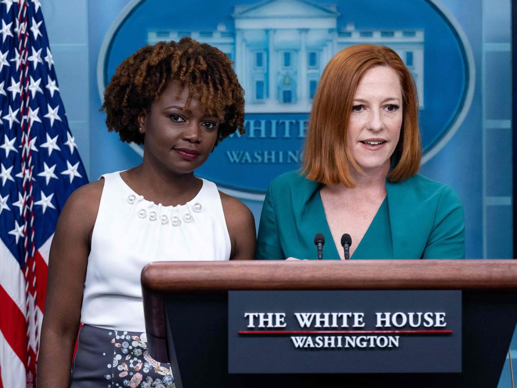
[[[255,255],[255,219],[249,208],[237,198],[220,192],[226,227],[232,242],[230,260],[253,260]]]

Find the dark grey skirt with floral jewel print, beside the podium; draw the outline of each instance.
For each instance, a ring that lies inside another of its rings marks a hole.
[[[145,333],[84,325],[70,388],[174,388],[170,365],[152,359],[145,340]]]

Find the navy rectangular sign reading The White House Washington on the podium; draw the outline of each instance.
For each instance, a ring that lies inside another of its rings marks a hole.
[[[230,374],[462,371],[461,291],[230,291]]]

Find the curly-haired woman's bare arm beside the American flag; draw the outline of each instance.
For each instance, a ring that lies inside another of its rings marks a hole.
[[[84,279],[104,181],[75,190],[59,216],[49,256],[38,388],[68,387]]]

